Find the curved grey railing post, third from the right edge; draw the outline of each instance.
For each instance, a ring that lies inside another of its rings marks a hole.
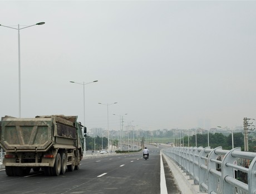
[[[211,193],[211,191],[218,191],[218,190],[223,190],[223,188],[221,188],[221,180],[219,180],[218,177],[216,177],[215,175],[210,173],[210,169],[214,169],[217,170],[216,168],[216,163],[215,162],[211,162],[211,159],[217,160],[218,159],[218,154],[215,154],[215,150],[222,150],[222,147],[216,147],[215,149],[213,149],[209,156],[208,156],[208,160],[207,160],[207,173],[208,173],[208,193]],[[221,166],[222,167],[222,166]],[[222,171],[222,169],[221,169]],[[218,192],[216,192],[218,193]],[[222,193],[222,192],[220,192]],[[230,192],[233,193],[233,192]]]

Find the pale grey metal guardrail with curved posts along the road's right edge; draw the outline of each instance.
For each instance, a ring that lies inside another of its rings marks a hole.
[[[163,150],[199,185],[200,192],[210,194],[256,194],[256,153],[222,150],[222,147],[173,147]]]

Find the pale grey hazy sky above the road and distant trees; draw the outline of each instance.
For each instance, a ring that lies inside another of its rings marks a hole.
[[[21,117],[87,129],[242,126],[256,119],[255,1],[0,1],[20,30]],[[18,117],[18,30],[0,26],[0,116]],[[116,114],[117,116],[113,115]]]

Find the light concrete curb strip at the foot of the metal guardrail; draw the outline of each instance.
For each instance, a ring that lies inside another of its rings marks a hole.
[[[194,185],[194,181],[189,179],[189,176],[186,175],[183,170],[180,169],[178,165],[175,164],[173,160],[171,160],[167,155],[163,152],[162,154],[165,157],[166,162],[168,163],[171,172],[174,175],[174,179],[181,191],[184,194],[198,194],[198,193],[205,193],[200,192],[199,185]]]

